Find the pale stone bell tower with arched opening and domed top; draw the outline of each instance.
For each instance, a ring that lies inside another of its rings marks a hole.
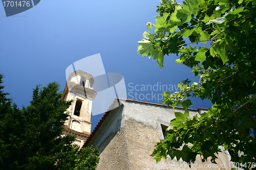
[[[93,76],[77,70],[70,74],[61,100],[73,100],[67,109],[70,117],[65,122],[64,134],[76,135],[75,143],[82,147],[91,134],[92,102],[97,92],[92,88]]]

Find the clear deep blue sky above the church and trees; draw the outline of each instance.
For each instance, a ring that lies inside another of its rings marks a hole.
[[[147,22],[155,22],[158,0],[140,1],[56,1],[42,0],[35,7],[6,17],[0,5],[0,73],[5,91],[21,108],[32,100],[32,88],[57,81],[66,85],[66,68],[77,60],[100,53],[106,72],[123,75],[127,99],[161,103],[142,85],[177,87],[193,77],[190,69],[175,63],[177,56],[165,56],[161,70],[156,61],[137,54],[138,41]],[[89,72],[90,73],[90,72]],[[138,86],[136,86],[138,85]],[[136,91],[135,86],[139,91]],[[170,91],[170,92],[174,92]],[[139,94],[141,98],[139,99]],[[148,95],[149,96],[149,95]],[[211,107],[209,101],[192,100],[191,108]],[[102,114],[92,116],[92,130]]]

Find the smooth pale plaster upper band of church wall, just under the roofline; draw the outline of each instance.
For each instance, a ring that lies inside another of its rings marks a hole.
[[[182,108],[173,109],[172,107],[167,108],[167,106],[132,101],[122,103],[123,105],[121,107],[117,107],[109,113],[109,116],[106,117],[96,134],[90,140],[89,145],[93,144],[99,148],[111,134],[119,132],[129,119],[134,119],[137,122],[151,126],[162,134],[161,124],[169,126],[170,120],[175,118],[175,112],[184,112]],[[118,105],[118,103],[116,104]],[[197,110],[189,110],[189,117],[193,117],[196,114],[200,116]]]

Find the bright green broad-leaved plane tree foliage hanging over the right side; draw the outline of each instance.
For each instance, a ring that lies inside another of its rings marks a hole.
[[[231,161],[255,162],[256,1],[163,0],[157,12],[138,42],[139,54],[157,60],[161,69],[164,57],[175,54],[200,81],[187,79],[178,84],[180,91],[163,92],[162,103],[185,112],[175,113],[152,156],[157,162],[166,155],[194,162],[199,154],[215,162],[223,146]],[[188,118],[189,96],[210,100],[212,108]]]

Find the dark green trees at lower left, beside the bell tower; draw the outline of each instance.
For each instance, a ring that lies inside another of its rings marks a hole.
[[[0,74],[0,169],[95,169],[98,149],[79,151],[76,136],[62,135],[72,101],[60,100],[58,83],[37,86],[30,105],[18,109],[2,79]]]

